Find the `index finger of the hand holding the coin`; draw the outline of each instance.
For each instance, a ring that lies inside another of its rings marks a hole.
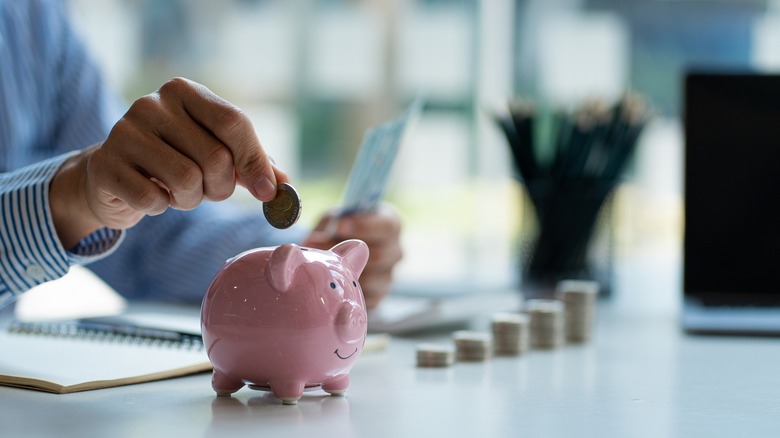
[[[276,196],[276,185],[284,181],[278,180],[252,122],[241,109],[185,78],[171,79],[159,93],[162,99],[176,99],[193,120],[230,149],[238,180],[255,198],[270,201]],[[281,172],[279,176],[286,178]]]

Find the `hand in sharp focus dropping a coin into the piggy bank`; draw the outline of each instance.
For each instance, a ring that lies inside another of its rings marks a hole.
[[[68,160],[50,202],[68,248],[101,227],[129,228],[168,207],[226,199],[236,184],[269,201],[287,181],[239,108],[174,78],[135,101],[104,142]]]

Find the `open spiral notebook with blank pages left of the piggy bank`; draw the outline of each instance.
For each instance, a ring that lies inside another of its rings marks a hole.
[[[100,320],[12,323],[0,385],[66,394],[210,371],[199,333]]]

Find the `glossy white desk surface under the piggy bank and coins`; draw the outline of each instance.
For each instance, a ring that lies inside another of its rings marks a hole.
[[[248,388],[218,398],[209,375],[69,395],[0,388],[0,434],[780,436],[780,339],[692,337],[674,316],[609,305],[591,343],[519,358],[417,368],[421,339],[364,354],[346,397],[296,406]]]

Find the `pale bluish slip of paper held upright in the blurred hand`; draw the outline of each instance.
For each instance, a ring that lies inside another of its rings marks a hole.
[[[369,129],[352,165],[344,191],[342,214],[371,211],[382,199],[398,149],[419,119],[423,102],[416,99],[398,118]]]

